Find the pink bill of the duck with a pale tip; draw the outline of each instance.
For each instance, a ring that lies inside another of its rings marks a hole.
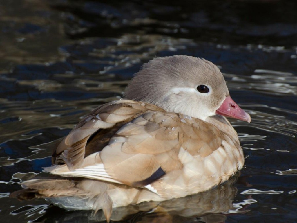
[[[217,114],[240,119],[246,122],[251,122],[251,117],[247,112],[242,110],[230,96],[226,97],[222,105],[217,109]]]

